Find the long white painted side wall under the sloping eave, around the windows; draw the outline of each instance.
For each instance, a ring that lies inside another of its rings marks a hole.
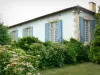
[[[24,28],[33,27],[33,36],[37,37],[41,41],[45,41],[45,23],[53,20],[62,20],[62,35],[63,39],[69,40],[71,37],[74,38],[74,15],[72,11],[66,11],[59,14],[47,16],[32,22],[22,24],[21,26],[10,28],[9,31],[18,30],[18,37],[22,38],[22,31]]]

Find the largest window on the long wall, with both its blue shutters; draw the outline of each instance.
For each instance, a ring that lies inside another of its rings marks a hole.
[[[62,20],[45,23],[45,41],[62,42]]]

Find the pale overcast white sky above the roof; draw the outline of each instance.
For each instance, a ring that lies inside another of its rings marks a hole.
[[[0,20],[11,26],[75,5],[89,9],[90,1],[100,5],[100,0],[0,0]]]

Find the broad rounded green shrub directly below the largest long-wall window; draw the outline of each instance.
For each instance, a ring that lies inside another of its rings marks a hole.
[[[53,43],[47,48],[48,52],[48,66],[61,67],[64,64],[65,46],[59,43]]]

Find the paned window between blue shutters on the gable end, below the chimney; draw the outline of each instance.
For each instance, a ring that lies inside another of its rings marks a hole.
[[[84,20],[84,42],[89,41],[89,21]]]

